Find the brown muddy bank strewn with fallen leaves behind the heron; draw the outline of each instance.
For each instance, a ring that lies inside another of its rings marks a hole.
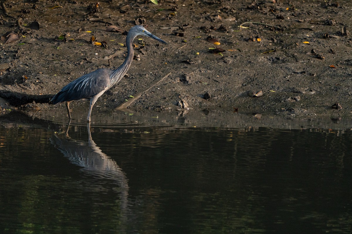
[[[125,44],[121,32],[143,23],[168,45],[137,38],[136,60],[125,78],[101,96],[92,118],[99,111],[113,111],[136,94],[140,98],[127,107],[134,112],[173,114],[211,108],[228,114],[235,107],[239,113],[284,118],[340,118],[351,114],[351,2],[186,0],[154,5],[149,1],[117,1],[100,2],[98,7],[94,1],[59,4],[4,1],[1,35],[13,31],[19,39],[1,42],[2,93],[50,96],[82,74],[117,68],[126,56],[126,47],[120,45]],[[33,29],[33,22],[38,22],[39,29]],[[248,28],[238,27],[241,24]],[[121,32],[107,32],[111,25]],[[92,36],[105,41],[107,48],[94,45]],[[213,38],[220,45],[207,40]],[[209,48],[221,48],[223,52],[211,53],[214,50]],[[113,54],[116,56],[109,59]],[[253,95],[260,91],[263,95]],[[26,105],[0,96],[3,113],[23,106],[30,115],[66,111],[63,104]],[[335,103],[340,106],[334,109]],[[71,106],[74,112],[82,109],[84,113],[88,103]]]

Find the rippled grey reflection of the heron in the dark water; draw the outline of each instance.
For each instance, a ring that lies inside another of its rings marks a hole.
[[[95,179],[109,179],[118,186],[120,192],[121,212],[127,214],[128,179],[117,163],[101,151],[92,139],[90,124],[87,124],[88,142],[70,138],[70,122],[65,134],[53,134],[50,142],[67,157],[71,163]],[[111,182],[109,182],[111,183]],[[98,187],[100,183],[97,183]],[[95,186],[94,184],[90,186]],[[125,216],[125,215],[122,215]]]

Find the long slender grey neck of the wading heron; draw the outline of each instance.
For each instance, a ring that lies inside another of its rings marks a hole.
[[[119,66],[117,69],[115,69],[112,74],[111,74],[111,86],[115,85],[115,83],[119,82],[122,77],[124,77],[124,75],[126,74],[128,68],[130,68],[132,60],[133,60],[133,55],[134,55],[134,51],[133,51],[133,46],[132,46],[132,42],[133,39],[136,36],[130,36],[129,34],[127,34],[126,37],[126,46],[127,46],[127,57],[125,59],[125,61],[121,64],[121,66]]]

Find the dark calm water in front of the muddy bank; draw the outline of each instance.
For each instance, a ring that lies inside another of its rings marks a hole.
[[[0,126],[0,233],[351,233],[350,130]]]

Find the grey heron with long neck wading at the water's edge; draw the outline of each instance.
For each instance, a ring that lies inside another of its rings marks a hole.
[[[70,102],[90,100],[87,117],[87,121],[90,122],[90,114],[92,113],[92,108],[95,102],[103,93],[119,82],[128,71],[128,68],[130,68],[134,54],[132,42],[138,35],[148,36],[167,44],[162,39],[150,33],[143,26],[133,26],[126,37],[127,56],[121,66],[117,69],[100,68],[77,78],[55,94],[55,96],[50,100],[50,103],[56,104],[66,102],[68,117],[69,119],[72,119],[70,113]]]

